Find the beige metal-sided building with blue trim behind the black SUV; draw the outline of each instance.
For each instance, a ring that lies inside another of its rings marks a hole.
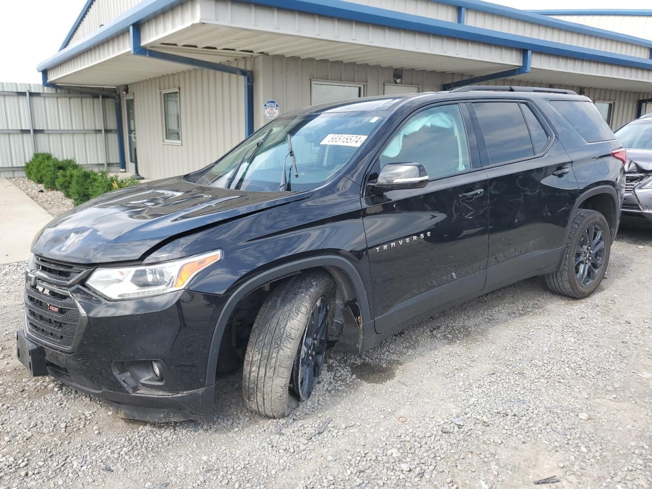
[[[121,164],[152,179],[205,166],[278,113],[365,95],[567,88],[612,128],[652,110],[652,39],[544,13],[479,0],[88,0],[38,70],[46,86],[117,97]]]

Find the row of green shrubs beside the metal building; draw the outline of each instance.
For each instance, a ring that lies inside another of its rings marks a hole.
[[[106,171],[84,170],[74,160],[59,160],[50,153],[36,153],[25,164],[25,175],[45,188],[63,192],[74,205],[138,183],[133,177],[120,178]]]

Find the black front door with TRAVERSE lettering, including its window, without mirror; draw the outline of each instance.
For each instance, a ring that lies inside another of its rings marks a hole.
[[[488,243],[487,177],[466,107],[445,104],[412,115],[376,162],[417,162],[425,188],[368,192],[363,199],[377,333],[484,286]]]

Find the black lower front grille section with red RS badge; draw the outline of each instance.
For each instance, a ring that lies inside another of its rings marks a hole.
[[[75,301],[44,284],[25,287],[27,332],[37,340],[61,349],[71,349],[80,323]]]

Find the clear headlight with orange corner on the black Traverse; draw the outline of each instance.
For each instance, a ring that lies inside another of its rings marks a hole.
[[[192,277],[220,259],[222,250],[216,250],[152,265],[98,268],[86,285],[109,299],[158,295],[183,289]]]

